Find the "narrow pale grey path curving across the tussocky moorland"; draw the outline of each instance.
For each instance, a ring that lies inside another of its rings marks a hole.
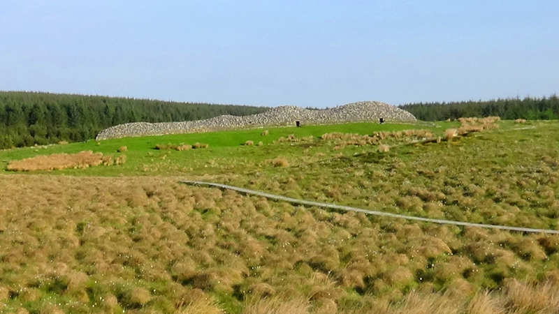
[[[391,214],[386,213],[384,211],[370,211],[368,209],[360,209],[356,207],[349,207],[349,206],[341,206],[336,204],[327,204],[327,203],[319,203],[319,202],[311,202],[306,200],[298,200],[296,198],[285,197],[280,195],[274,195],[269,193],[259,192],[257,190],[249,190],[247,188],[238,188],[236,186],[228,186],[226,184],[216,184],[212,182],[204,182],[204,181],[189,181],[183,180],[180,181],[183,184],[188,184],[191,186],[209,186],[227,190],[235,190],[242,194],[249,194],[249,195],[258,195],[266,197],[270,200],[279,200],[283,202],[289,202],[291,204],[301,204],[306,206],[316,206],[316,207],[323,207],[323,208],[331,208],[331,209],[340,209],[343,211],[356,211],[358,213],[368,214],[368,215],[376,215],[376,216],[386,216],[391,218],[401,218],[407,220],[419,220],[424,221],[427,223],[441,223],[447,225],[463,225],[467,227],[481,227],[481,228],[491,228],[491,229],[500,229],[500,230],[510,230],[510,231],[519,231],[519,232],[532,232],[532,233],[548,233],[548,234],[559,234],[558,230],[549,230],[549,229],[533,229],[533,228],[526,228],[526,227],[510,227],[507,225],[485,225],[483,223],[466,223],[463,221],[454,221],[454,220],[444,220],[444,219],[433,219],[433,218],[423,218],[423,217],[415,217],[415,216],[406,216],[400,214]]]

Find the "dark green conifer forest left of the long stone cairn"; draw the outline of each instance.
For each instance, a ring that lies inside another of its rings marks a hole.
[[[266,107],[0,91],[0,149],[92,139],[129,122],[193,121],[222,114],[244,116]]]

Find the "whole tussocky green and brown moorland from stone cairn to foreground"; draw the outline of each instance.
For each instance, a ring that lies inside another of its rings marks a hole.
[[[559,230],[559,124],[496,124],[449,140],[445,130],[458,122],[0,151],[3,311],[556,313],[558,235],[416,223],[179,183]],[[155,149],[196,142],[209,147]],[[126,163],[5,170],[13,160],[88,150],[126,155]]]

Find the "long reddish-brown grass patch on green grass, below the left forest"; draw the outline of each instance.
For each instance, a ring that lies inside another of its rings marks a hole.
[[[62,170],[85,169],[96,165],[120,165],[126,156],[118,156],[112,160],[110,156],[103,156],[93,151],[80,151],[77,154],[52,154],[14,160],[6,167],[9,171],[37,171],[37,170]]]

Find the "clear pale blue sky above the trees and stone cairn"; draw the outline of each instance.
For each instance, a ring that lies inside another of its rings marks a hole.
[[[0,2],[0,90],[333,107],[559,93],[559,1]]]

